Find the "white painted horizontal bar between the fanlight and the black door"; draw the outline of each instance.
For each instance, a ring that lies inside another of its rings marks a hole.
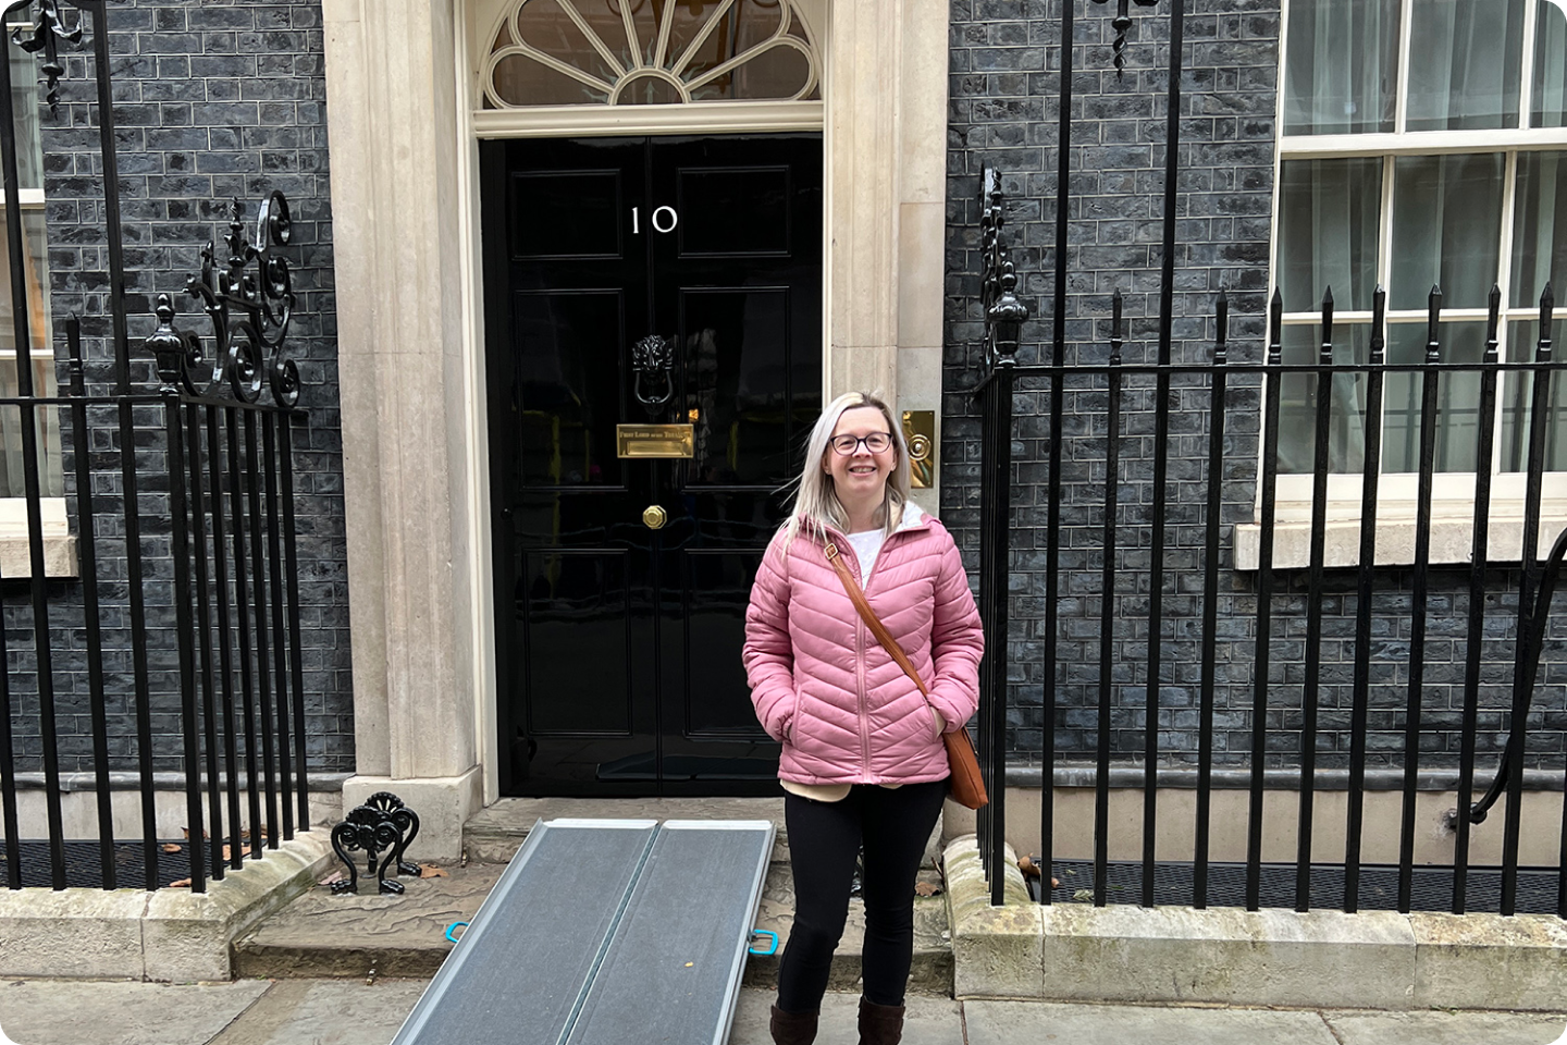
[[[480,110],[480,138],[584,138],[602,135],[719,135],[821,130],[821,102],[710,102],[705,105],[555,105]]]

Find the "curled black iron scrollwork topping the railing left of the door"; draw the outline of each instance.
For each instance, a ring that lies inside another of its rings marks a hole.
[[[293,320],[293,277],[288,260],[274,254],[291,238],[288,199],[282,193],[266,197],[254,244],[238,199],[230,213],[229,235],[223,240],[227,262],[219,265],[216,241],[208,243],[201,255],[201,276],[185,282],[185,293],[202,302],[212,321],[215,351],[207,379],[197,378],[207,359],[202,340],[176,327],[169,295],[157,298],[158,329],[146,348],[157,354],[158,376],[166,385],[183,382],[193,395],[208,395],[227,384],[233,398],[244,403],[255,403],[263,389],[271,389],[274,403],[291,409],[299,403],[299,368],[284,357],[284,340]]]

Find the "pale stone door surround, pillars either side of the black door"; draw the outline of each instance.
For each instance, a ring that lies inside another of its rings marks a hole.
[[[321,8],[354,620],[357,765],[345,799],[420,796],[422,818],[442,824],[426,832],[442,854],[500,785],[480,2]],[[826,6],[824,393],[881,389],[901,409],[940,412],[948,5]]]

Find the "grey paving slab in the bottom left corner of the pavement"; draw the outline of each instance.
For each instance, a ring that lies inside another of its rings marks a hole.
[[[207,1045],[268,987],[0,981],[0,1028],[11,1045]]]

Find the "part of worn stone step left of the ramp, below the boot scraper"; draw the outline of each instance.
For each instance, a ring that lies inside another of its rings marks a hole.
[[[346,976],[429,978],[451,951],[447,926],[470,921],[505,871],[500,863],[442,868],[445,877],[398,879],[401,896],[379,895],[360,879],[359,893],[335,896],[318,885],[233,945],[243,978]]]

